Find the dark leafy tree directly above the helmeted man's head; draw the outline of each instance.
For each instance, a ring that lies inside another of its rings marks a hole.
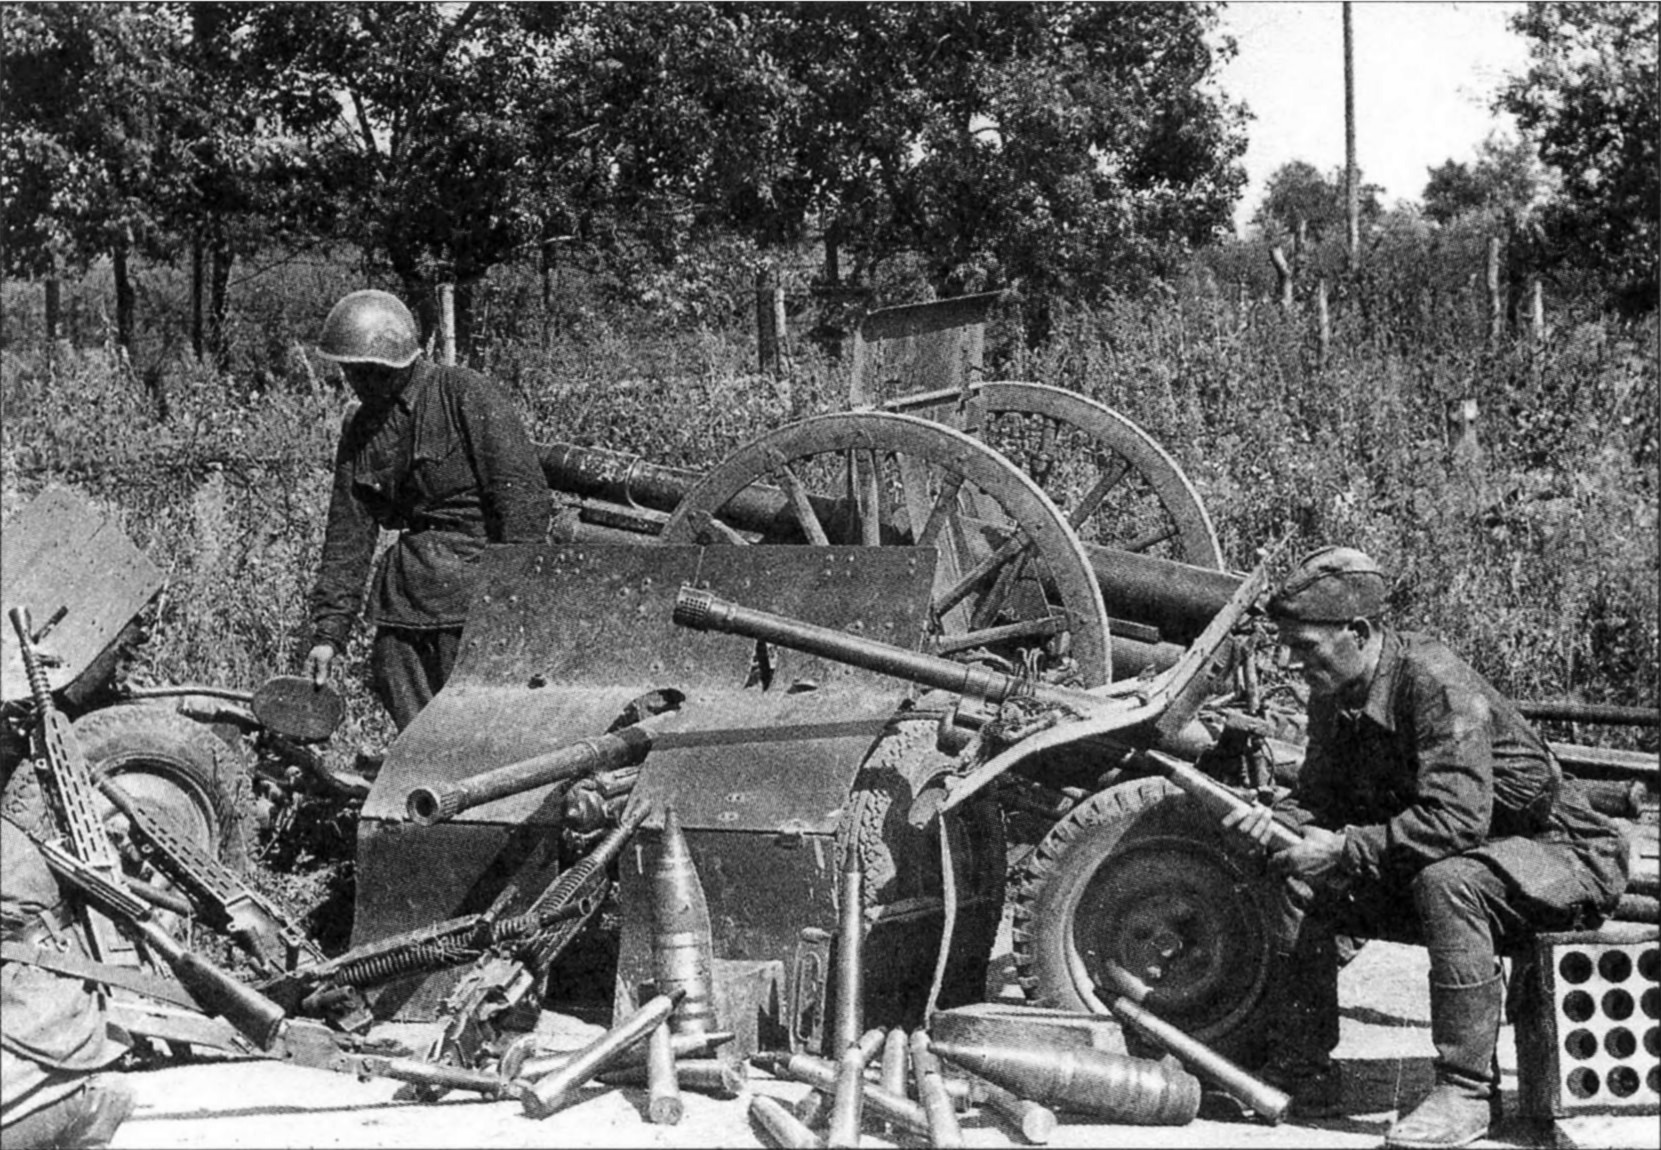
[[[385,259],[429,321],[453,283],[467,346],[473,286],[548,216],[553,45],[527,10],[561,5],[236,7],[244,66],[302,145],[297,179],[327,193],[329,231]]]

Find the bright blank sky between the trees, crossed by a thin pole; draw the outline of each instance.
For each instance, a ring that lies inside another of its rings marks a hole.
[[[1418,199],[1427,168],[1470,161],[1493,131],[1515,136],[1510,116],[1488,111],[1510,73],[1528,63],[1526,42],[1507,28],[1520,3],[1355,3],[1355,165],[1380,184],[1385,206]],[[1256,113],[1247,126],[1249,183],[1236,228],[1291,160],[1324,173],[1344,168],[1344,8],[1340,3],[1229,3],[1222,28],[1239,57],[1222,90]]]

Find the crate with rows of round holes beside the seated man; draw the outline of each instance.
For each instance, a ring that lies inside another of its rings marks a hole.
[[[1520,987],[1523,1113],[1661,1113],[1661,931],[1541,934]]]

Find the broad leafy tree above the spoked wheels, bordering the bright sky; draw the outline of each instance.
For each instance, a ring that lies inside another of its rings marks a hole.
[[[940,294],[1100,299],[1227,226],[1241,106],[1214,5],[771,5],[799,91],[791,181],[830,253]],[[834,278],[834,264],[827,268]]]

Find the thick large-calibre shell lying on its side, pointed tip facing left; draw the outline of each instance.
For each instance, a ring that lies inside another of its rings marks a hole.
[[[915,1037],[912,1042],[915,1062]],[[1133,1125],[1184,1125],[1199,1113],[1199,1080],[1186,1070],[1149,1059],[1090,1047],[1040,1050],[990,1042],[930,1045],[942,1059],[1053,1110]]]

